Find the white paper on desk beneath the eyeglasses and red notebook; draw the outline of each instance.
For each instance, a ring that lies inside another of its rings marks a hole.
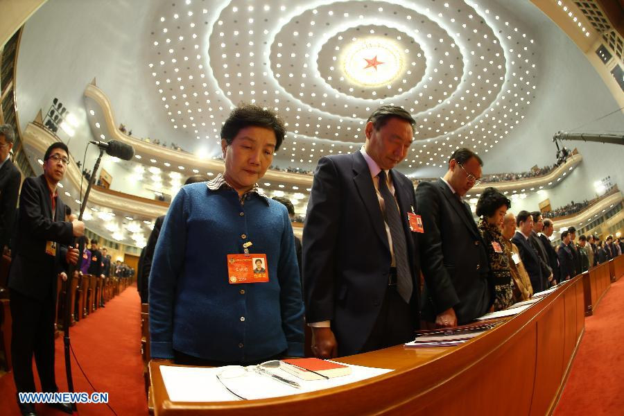
[[[270,372],[276,375],[296,381],[301,385],[301,388],[293,388],[291,385],[281,383],[270,376],[254,371],[247,371],[243,376],[226,378],[223,374],[226,374],[224,369],[227,369],[227,367],[205,368],[161,365],[160,372],[171,401],[203,402],[240,400],[236,395],[245,399],[267,399],[270,397],[297,395],[355,383],[356,381],[370,379],[392,371],[385,368],[347,365],[352,369],[352,373],[347,376],[312,381],[298,379],[293,374],[288,374],[288,372],[279,368],[270,369]],[[222,374],[220,379],[223,383],[217,379],[217,374]],[[236,395],[227,389],[232,390]]]

